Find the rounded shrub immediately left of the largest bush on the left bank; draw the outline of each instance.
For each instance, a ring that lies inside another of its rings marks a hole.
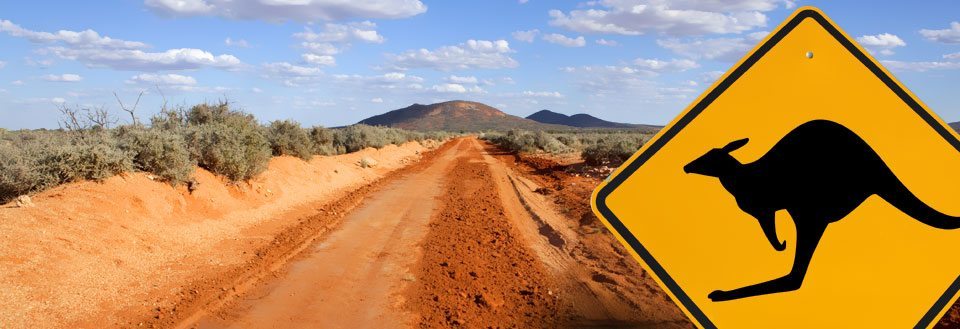
[[[118,129],[120,149],[131,154],[137,170],[177,185],[190,180],[194,162],[183,136],[160,128],[128,126]]]

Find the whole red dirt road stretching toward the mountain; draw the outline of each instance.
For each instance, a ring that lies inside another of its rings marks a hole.
[[[451,143],[178,326],[690,327],[611,236],[579,229],[491,147]]]

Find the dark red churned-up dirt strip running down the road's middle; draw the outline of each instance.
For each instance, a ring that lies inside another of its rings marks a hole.
[[[476,140],[447,176],[409,307],[420,328],[555,328],[558,284],[520,238]]]

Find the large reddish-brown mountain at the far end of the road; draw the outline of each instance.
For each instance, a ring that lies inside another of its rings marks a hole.
[[[363,119],[358,123],[410,130],[571,129],[567,126],[545,124],[509,115],[485,104],[468,101],[449,101],[430,105],[413,104]]]

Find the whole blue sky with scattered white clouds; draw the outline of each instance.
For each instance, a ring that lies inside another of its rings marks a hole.
[[[0,127],[158,89],[307,126],[452,99],[663,124],[804,5],[960,121],[958,1],[129,0],[0,3]]]

